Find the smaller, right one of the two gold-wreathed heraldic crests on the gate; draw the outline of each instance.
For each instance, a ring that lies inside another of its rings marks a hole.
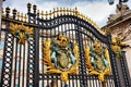
[[[95,41],[93,47],[84,47],[84,57],[88,73],[98,75],[98,79],[105,82],[104,76],[110,73],[107,48],[100,47],[100,42]]]

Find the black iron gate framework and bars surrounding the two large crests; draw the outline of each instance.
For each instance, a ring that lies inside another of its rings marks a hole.
[[[3,13],[1,40],[4,41],[4,50],[0,87],[63,87],[60,74],[48,74],[43,62],[43,41],[56,38],[59,34],[79,46],[76,73],[68,75],[66,87],[130,87],[124,53],[119,60],[121,69],[118,69],[110,48],[111,37],[103,34],[93,21],[76,9],[60,8],[45,13],[37,11],[36,5],[33,5],[34,12],[31,9],[28,3],[27,16],[16,10],[12,11],[11,16],[9,8]],[[104,83],[97,75],[88,74],[85,66],[84,47],[91,47],[94,41],[99,41],[100,47],[109,51],[110,73],[105,75]]]

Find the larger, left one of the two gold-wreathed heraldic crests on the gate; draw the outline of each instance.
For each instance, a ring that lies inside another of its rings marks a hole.
[[[47,73],[60,74],[63,83],[68,80],[68,74],[76,72],[79,64],[79,48],[66,36],[59,34],[53,39],[44,40],[44,64],[47,65]]]

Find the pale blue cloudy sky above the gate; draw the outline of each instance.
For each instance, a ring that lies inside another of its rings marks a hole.
[[[40,11],[49,11],[53,8],[78,8],[79,12],[85,14],[93,20],[99,27],[107,23],[109,14],[115,13],[116,4],[119,0],[115,0],[115,4],[109,5],[108,0],[5,0],[3,8],[10,7],[20,12],[26,13],[26,4],[31,2],[36,4]],[[131,9],[131,0],[126,2]]]

